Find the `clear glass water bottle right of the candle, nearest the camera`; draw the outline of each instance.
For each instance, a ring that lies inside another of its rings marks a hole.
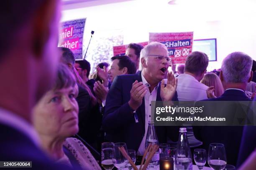
[[[187,128],[179,128],[179,140],[175,154],[175,170],[192,170],[192,155],[186,132]]]

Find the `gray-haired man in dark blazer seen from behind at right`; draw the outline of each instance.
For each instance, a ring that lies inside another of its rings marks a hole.
[[[251,81],[253,76],[252,63],[251,57],[243,52],[232,52],[225,57],[220,71],[220,80],[225,92],[220,97],[205,101],[251,101],[246,96],[245,90],[247,83]],[[222,109],[225,110],[225,108]],[[232,108],[228,107],[227,109]],[[223,114],[228,113],[223,112]],[[196,131],[195,136],[203,141],[202,148],[208,148],[209,144],[213,142],[223,143],[228,163],[236,165],[243,126],[205,126],[201,128],[199,134]],[[241,157],[241,159],[244,160],[245,158]]]

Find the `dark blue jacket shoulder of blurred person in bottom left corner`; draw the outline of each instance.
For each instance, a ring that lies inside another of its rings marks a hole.
[[[30,138],[20,131],[7,125],[0,124],[0,134],[1,161],[32,161],[32,168],[28,168],[31,170],[70,169],[66,166],[53,163]]]

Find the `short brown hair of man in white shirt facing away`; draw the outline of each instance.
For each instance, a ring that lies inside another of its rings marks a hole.
[[[185,61],[184,72],[201,74],[208,67],[208,56],[200,51],[191,52]]]

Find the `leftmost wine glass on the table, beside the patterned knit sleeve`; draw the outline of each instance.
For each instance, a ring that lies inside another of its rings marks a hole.
[[[114,155],[114,143],[105,142],[101,144],[101,166],[105,170],[112,170],[114,168],[113,164]]]

